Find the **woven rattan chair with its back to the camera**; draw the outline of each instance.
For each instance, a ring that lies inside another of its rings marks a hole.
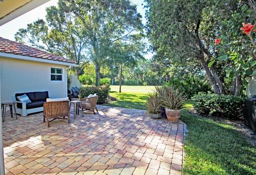
[[[50,122],[56,119],[68,119],[68,123],[70,123],[69,101],[45,102],[44,122],[45,119],[47,120],[48,127],[50,127]]]

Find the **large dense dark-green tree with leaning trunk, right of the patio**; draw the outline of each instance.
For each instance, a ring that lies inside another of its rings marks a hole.
[[[215,66],[214,40],[221,21],[230,19],[237,1],[155,1],[146,0],[148,36],[159,61],[199,61],[215,94],[225,94]]]

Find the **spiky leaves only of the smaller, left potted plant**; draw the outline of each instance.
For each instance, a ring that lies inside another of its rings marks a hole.
[[[162,112],[162,103],[157,93],[148,93],[147,110],[151,114],[159,114]]]

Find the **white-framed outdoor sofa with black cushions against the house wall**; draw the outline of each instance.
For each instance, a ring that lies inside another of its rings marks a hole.
[[[21,102],[18,97],[27,95],[31,103]],[[30,113],[43,111],[44,102],[49,98],[48,91],[36,91],[29,93],[17,93],[12,96],[12,101],[17,104],[17,113],[21,116],[27,116]]]

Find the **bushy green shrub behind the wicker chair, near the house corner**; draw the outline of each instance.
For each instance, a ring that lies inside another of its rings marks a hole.
[[[98,95],[98,104],[103,104],[107,101],[109,86],[85,86],[80,89],[79,98],[85,98],[90,94]]]

